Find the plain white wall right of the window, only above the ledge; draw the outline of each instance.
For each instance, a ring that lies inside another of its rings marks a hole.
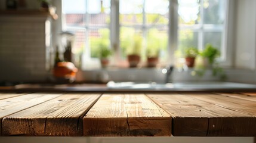
[[[236,0],[235,67],[255,70],[256,66],[256,1]]]

